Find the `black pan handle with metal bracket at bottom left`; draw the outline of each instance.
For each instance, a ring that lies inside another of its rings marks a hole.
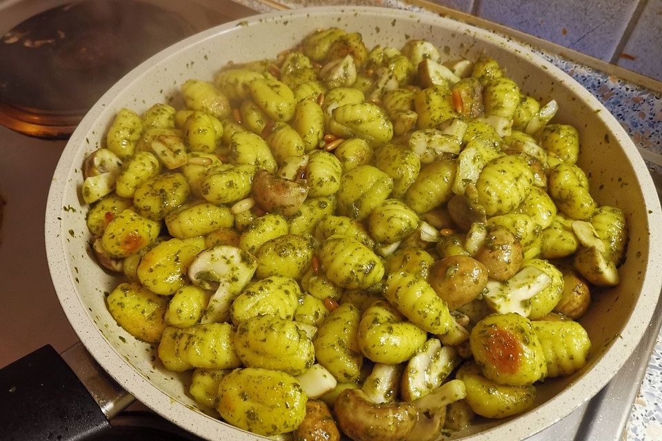
[[[0,369],[0,432],[7,441],[90,439],[133,401],[80,342],[62,356],[46,345]]]

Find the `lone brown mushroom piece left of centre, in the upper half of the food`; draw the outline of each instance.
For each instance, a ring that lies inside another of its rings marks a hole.
[[[308,196],[303,183],[288,181],[259,170],[253,178],[253,197],[267,212],[292,216]]]

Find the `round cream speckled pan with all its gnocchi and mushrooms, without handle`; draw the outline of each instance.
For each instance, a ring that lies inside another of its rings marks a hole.
[[[46,247],[83,345],[202,438],[524,440],[643,336],[660,220],[613,116],[521,45],[312,8],[114,85]]]

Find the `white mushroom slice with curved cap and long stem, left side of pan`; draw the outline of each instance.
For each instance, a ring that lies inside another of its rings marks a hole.
[[[188,267],[192,283],[205,289],[218,284],[201,322],[229,320],[232,301],[248,285],[256,268],[257,260],[251,254],[229,245],[216,245],[198,254]]]

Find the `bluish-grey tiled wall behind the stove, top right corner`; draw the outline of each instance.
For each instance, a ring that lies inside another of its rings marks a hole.
[[[433,0],[662,81],[662,0]]]

